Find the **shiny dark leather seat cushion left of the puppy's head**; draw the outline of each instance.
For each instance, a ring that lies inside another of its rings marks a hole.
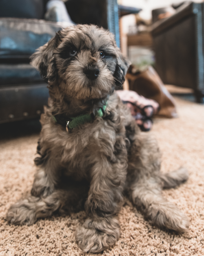
[[[0,18],[1,59],[28,58],[35,49],[47,43],[55,33],[73,25],[67,22],[51,22],[37,19]],[[7,61],[8,62],[8,61]]]

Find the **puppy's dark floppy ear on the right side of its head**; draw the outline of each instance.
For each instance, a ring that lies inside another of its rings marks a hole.
[[[119,48],[117,52],[118,52],[118,58],[117,58],[117,64],[116,64],[116,68],[113,76],[115,77],[115,85],[122,87],[125,81],[126,72],[131,62],[122,55]]]

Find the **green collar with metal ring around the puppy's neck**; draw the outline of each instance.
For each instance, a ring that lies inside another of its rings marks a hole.
[[[103,106],[103,108],[99,109],[97,111],[96,116],[102,117],[104,115],[104,111],[106,110],[106,105]],[[71,131],[73,128],[78,127],[79,125],[83,125],[86,122],[91,122],[94,119],[93,113],[92,114],[85,114],[85,115],[79,115],[76,117],[69,118],[67,116],[62,115],[53,115],[53,119],[56,123],[66,126],[67,131]]]

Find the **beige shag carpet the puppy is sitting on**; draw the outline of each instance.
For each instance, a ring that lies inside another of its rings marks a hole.
[[[186,184],[164,191],[188,216],[189,233],[179,236],[151,226],[128,202],[120,211],[120,240],[95,255],[204,255],[204,105],[179,98],[176,102],[179,118],[156,118],[151,133],[163,152],[162,171],[184,165],[190,172]],[[38,220],[29,227],[12,226],[5,220],[9,206],[31,190],[37,140],[34,134],[0,142],[0,256],[82,256],[74,233],[84,222],[84,212]]]

